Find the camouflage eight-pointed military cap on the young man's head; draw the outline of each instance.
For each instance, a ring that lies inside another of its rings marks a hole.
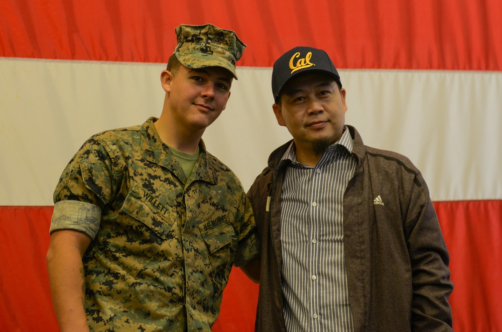
[[[231,30],[212,24],[202,26],[180,25],[175,29],[178,45],[174,54],[188,68],[223,67],[237,79],[235,62],[240,59],[246,45]]]

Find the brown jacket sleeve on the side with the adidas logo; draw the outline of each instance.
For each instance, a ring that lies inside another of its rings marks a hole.
[[[412,267],[412,330],[451,331],[448,298],[453,290],[449,255],[429,190],[420,173],[405,221],[405,236]]]

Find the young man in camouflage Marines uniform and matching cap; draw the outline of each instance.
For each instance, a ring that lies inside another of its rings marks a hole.
[[[245,45],[210,24],[175,31],[160,117],[89,138],[56,187],[47,266],[62,330],[208,331],[232,265],[258,281],[250,202],[201,138]]]

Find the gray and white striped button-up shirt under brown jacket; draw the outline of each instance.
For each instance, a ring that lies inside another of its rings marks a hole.
[[[343,255],[343,193],[355,170],[345,127],[314,168],[291,143],[281,196],[282,291],[288,331],[353,331]]]

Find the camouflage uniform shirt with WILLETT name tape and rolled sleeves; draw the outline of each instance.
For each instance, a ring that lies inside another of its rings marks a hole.
[[[201,141],[183,182],[154,121],[89,138],[54,193],[51,232],[93,239],[83,257],[91,330],[210,330],[232,264],[259,254],[237,177]]]

